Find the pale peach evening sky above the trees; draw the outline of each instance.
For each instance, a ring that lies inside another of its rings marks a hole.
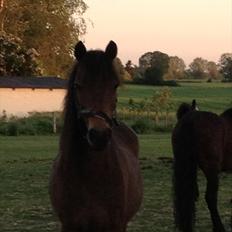
[[[218,62],[232,52],[232,0],[85,0],[87,49],[118,45],[125,64],[146,52]],[[92,23],[93,25],[92,25]]]

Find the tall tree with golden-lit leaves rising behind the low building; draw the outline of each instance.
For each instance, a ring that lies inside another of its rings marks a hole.
[[[45,74],[66,75],[72,48],[86,32],[83,0],[5,0],[3,28],[35,48]]]

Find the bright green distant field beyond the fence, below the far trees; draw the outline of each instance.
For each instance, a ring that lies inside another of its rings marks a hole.
[[[177,105],[196,99],[202,110],[221,113],[226,108],[232,107],[232,83],[180,82],[180,85],[170,87],[172,100]],[[119,90],[119,106],[125,106],[130,98],[135,101],[149,98],[154,91],[161,88],[165,87],[124,85]]]

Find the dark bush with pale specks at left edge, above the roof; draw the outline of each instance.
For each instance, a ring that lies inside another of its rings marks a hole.
[[[13,35],[0,34],[0,75],[33,76],[41,75],[35,49],[26,48]]]

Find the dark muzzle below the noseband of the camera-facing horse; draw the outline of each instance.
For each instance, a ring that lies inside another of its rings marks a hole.
[[[87,132],[87,140],[94,150],[104,150],[111,139],[112,130],[110,128],[95,129],[91,128]]]

